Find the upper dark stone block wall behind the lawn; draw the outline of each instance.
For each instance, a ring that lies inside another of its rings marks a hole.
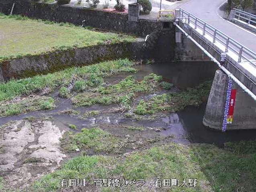
[[[13,14],[55,22],[70,22],[78,26],[82,26],[82,21],[85,20],[87,26],[101,30],[146,36],[161,27],[160,21],[138,20],[136,22],[128,20],[128,14],[68,5],[59,6],[30,0],[0,0],[0,12],[10,14],[14,2]]]

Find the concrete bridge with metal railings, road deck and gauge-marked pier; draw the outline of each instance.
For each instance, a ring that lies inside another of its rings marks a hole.
[[[231,20],[237,22],[237,14],[231,14]],[[175,18],[176,43],[184,46],[188,38],[220,69],[215,73],[203,123],[223,131],[256,128],[256,46],[252,43],[256,35],[226,20],[223,25],[216,15],[201,19],[183,8],[175,11]]]

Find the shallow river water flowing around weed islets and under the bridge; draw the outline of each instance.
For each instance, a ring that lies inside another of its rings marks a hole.
[[[162,75],[164,80],[174,84],[173,91],[182,90],[187,87],[197,86],[199,83],[213,78],[215,72],[215,66],[211,62],[193,62],[189,63],[172,63],[172,64],[151,64],[137,66],[139,72],[133,74],[138,80],[142,79],[150,73]],[[119,80],[125,78],[130,74],[118,74],[113,77],[106,78],[105,81],[109,83],[116,83]],[[162,93],[162,92],[161,92]],[[69,124],[77,126],[78,130],[84,127],[90,127],[97,124],[107,125],[142,125],[149,128],[147,131],[141,132],[141,136],[146,138],[153,137],[154,134],[168,137],[174,136],[175,142],[188,144],[190,142],[196,143],[209,143],[216,144],[217,146],[223,146],[223,143],[228,141],[239,140],[254,140],[256,130],[242,130],[242,131],[227,131],[225,133],[220,131],[211,130],[203,126],[202,119],[205,110],[205,103],[200,107],[188,106],[185,110],[178,113],[158,113],[157,118],[148,119],[147,115],[143,116],[141,120],[132,120],[125,118],[121,112],[111,112],[113,108],[118,108],[118,105],[100,106],[94,105],[90,107],[74,108],[71,105],[69,99],[59,98],[58,92],[51,93],[50,96],[57,100],[56,108],[48,111],[30,112],[27,114],[8,116],[0,118],[0,125],[9,122],[10,120],[21,120],[25,117],[51,117],[51,121],[59,128],[68,130]],[[153,94],[140,96],[135,102],[138,102],[141,98],[150,98]],[[81,113],[98,110],[100,114],[88,118],[79,118],[76,115],[59,114],[59,112],[74,108]],[[151,128],[151,129],[150,129]],[[152,128],[155,128],[152,130]],[[159,129],[158,129],[159,128]],[[111,128],[106,128],[109,132],[115,132],[116,135],[122,134],[122,132],[116,132]]]

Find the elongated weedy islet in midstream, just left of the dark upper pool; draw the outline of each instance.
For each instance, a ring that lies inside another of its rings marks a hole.
[[[88,92],[85,92],[78,94],[72,98],[72,103],[77,106],[118,103],[128,109],[136,93],[156,91],[161,80],[162,76],[156,74],[145,76],[140,82],[135,80],[133,76],[128,76],[117,84],[107,87],[99,86],[94,93],[88,94]]]

